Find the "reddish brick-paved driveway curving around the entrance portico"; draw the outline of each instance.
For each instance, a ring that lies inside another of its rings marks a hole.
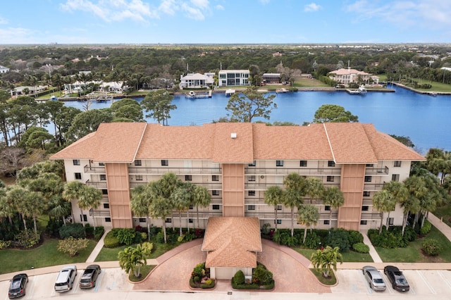
[[[276,281],[274,292],[330,293],[309,270],[309,260],[296,251],[262,239],[263,251],[257,261],[266,265]],[[157,258],[159,265],[135,290],[189,291],[192,269],[206,260],[201,251],[202,239],[182,244]],[[216,292],[232,290],[229,280],[218,280]]]

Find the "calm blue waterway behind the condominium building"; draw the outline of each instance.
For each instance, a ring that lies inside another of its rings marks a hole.
[[[416,149],[426,154],[429,148],[451,150],[451,96],[428,96],[393,87],[396,92],[368,92],[366,96],[346,92],[295,92],[277,94],[278,108],[271,113],[273,121],[289,121],[301,125],[311,122],[323,104],[337,104],[359,117],[361,123],[373,123],[376,130],[389,135],[410,137]],[[141,101],[142,98],[137,99]],[[202,125],[226,116],[228,98],[214,94],[211,99],[186,99],[175,96],[169,125]],[[67,106],[81,108],[80,102]],[[111,103],[95,103],[93,108],[109,107]],[[147,120],[149,123],[154,120]]]

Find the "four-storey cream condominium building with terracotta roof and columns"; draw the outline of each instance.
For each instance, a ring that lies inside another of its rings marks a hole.
[[[289,228],[290,208],[280,204],[275,220],[275,208],[264,203],[264,192],[274,185],[283,188],[285,177],[298,173],[319,178],[326,188],[339,187],[345,196],[345,204],[338,209],[305,197],[304,203],[319,208],[316,227],[352,230],[379,227],[381,214],[373,208],[373,195],[384,182],[409,177],[413,161],[424,161],[404,144],[362,123],[105,123],[51,159],[64,161],[68,181],[80,180],[104,195],[101,205],[89,212],[80,211],[74,199],[75,222],[92,223],[91,215],[95,225],[144,227],[145,216],[130,210],[131,190],[172,172],[182,181],[209,189],[211,203],[199,208],[200,227],[206,227],[209,217],[225,216],[254,217],[260,226],[269,223],[273,227],[276,222],[279,228]],[[195,211],[194,207],[189,213],[174,212],[152,224],[193,227],[194,222],[197,225]],[[389,223],[401,225],[402,215],[397,206]]]

